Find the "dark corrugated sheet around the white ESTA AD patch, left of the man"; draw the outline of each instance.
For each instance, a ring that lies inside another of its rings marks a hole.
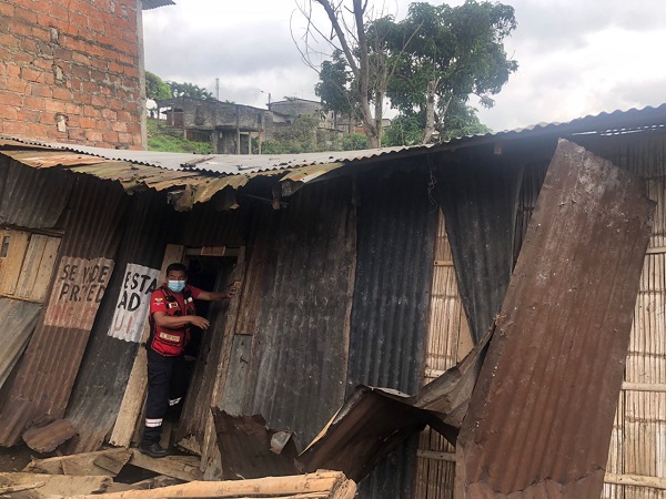
[[[67,408],[67,417],[78,432],[68,442],[70,452],[98,450],[113,428],[139,348],[138,343],[110,336],[125,272],[132,264],[159,269],[164,247],[179,232],[182,217],[167,205],[163,194],[145,193],[131,198],[131,206],[122,222],[115,268]]]

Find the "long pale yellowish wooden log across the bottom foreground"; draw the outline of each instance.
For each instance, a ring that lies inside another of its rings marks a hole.
[[[317,471],[291,477],[266,477],[251,480],[192,481],[178,486],[152,490],[132,490],[127,492],[98,496],[74,496],[74,499],[153,499],[163,497],[294,497],[351,499],[356,493],[352,480],[339,471]]]

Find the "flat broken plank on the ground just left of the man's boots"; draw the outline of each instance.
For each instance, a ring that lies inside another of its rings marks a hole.
[[[47,459],[32,460],[23,471],[49,475],[71,476],[115,476],[109,469],[98,466],[95,461],[107,464],[109,460],[128,462],[132,452],[127,449],[107,449],[97,452],[75,454],[72,456],[60,456]]]

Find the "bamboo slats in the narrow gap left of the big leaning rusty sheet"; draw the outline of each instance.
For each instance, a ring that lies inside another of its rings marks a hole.
[[[474,346],[458,293],[453,255],[442,212],[438,216],[434,257],[424,384],[455,366]],[[418,442],[415,498],[453,498],[455,462],[453,459],[447,459],[453,452],[455,452],[454,447],[436,431],[430,428],[422,431]]]

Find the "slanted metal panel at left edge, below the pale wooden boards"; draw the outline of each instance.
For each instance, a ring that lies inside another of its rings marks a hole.
[[[0,297],[0,387],[28,345],[40,308],[39,303]]]

